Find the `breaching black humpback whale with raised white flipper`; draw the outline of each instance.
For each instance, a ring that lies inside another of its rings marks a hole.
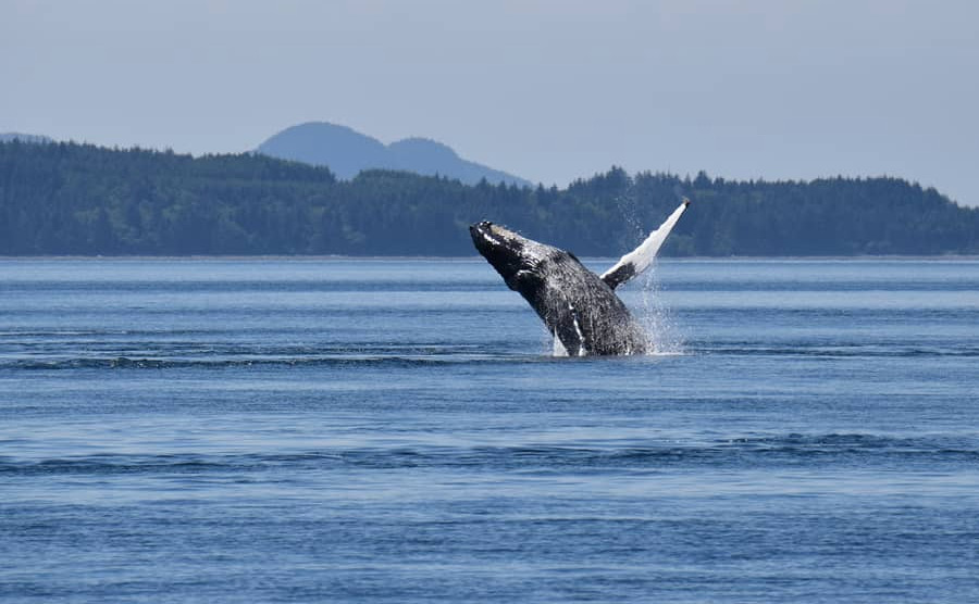
[[[615,289],[653,264],[690,200],[602,276],[570,252],[483,221],[469,227],[476,250],[537,312],[571,356],[643,354],[646,334]]]

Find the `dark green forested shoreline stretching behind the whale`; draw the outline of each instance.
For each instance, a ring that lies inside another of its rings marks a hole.
[[[669,255],[979,253],[979,210],[896,178],[735,181],[620,168],[567,189],[371,171],[349,181],[263,155],[0,143],[0,254],[471,255],[486,218],[618,255],[694,204]]]

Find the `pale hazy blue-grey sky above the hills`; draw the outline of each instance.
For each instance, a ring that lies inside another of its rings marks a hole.
[[[894,175],[979,204],[979,2],[0,0],[0,131],[205,153],[297,123],[565,185]]]

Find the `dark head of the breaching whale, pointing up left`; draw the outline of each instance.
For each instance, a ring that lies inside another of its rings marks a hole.
[[[560,252],[487,221],[470,226],[469,234],[507,286],[524,293],[540,286],[542,266]]]

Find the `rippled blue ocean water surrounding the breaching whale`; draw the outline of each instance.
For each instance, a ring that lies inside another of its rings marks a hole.
[[[657,354],[476,259],[0,261],[0,601],[979,601],[979,261],[624,289]]]

